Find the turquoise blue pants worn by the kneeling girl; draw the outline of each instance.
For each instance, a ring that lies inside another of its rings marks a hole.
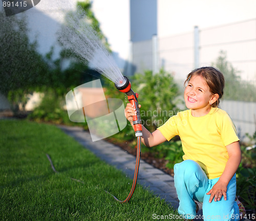
[[[225,201],[222,196],[220,201],[213,200],[209,203],[210,195],[206,193],[218,180],[219,178],[209,180],[199,164],[193,160],[175,164],[174,183],[180,201],[179,214],[187,219],[196,218],[196,200],[203,203],[204,220],[240,220],[239,207],[234,201],[237,191],[236,174],[227,186],[227,200]]]

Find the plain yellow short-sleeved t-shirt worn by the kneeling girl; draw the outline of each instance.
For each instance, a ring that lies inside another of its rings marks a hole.
[[[208,179],[221,176],[228,160],[226,146],[239,141],[237,130],[229,115],[211,108],[202,117],[193,117],[191,110],[179,112],[158,128],[166,140],[179,135],[184,152],[183,160],[194,160]]]

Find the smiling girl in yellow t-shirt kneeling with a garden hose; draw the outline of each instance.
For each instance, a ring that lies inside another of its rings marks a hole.
[[[196,69],[185,81],[188,109],[170,117],[152,133],[142,126],[142,142],[147,147],[180,136],[184,161],[174,166],[174,181],[180,201],[178,212],[186,219],[196,216],[198,206],[194,200],[203,203],[204,220],[241,218],[242,205],[236,201],[236,170],[241,150],[230,117],[218,108],[223,89],[224,76],[219,70]],[[135,108],[128,103],[125,117],[132,126],[134,115]]]

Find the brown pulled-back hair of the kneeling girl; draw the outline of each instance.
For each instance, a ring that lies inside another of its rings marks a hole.
[[[225,85],[224,75],[216,68],[202,67],[190,72],[187,75],[187,79],[185,80],[184,85],[188,83],[192,76],[202,76],[207,85],[209,86],[210,92],[212,94],[219,95],[219,99],[215,103],[211,104],[212,107],[218,107],[220,99],[223,96],[223,90]]]

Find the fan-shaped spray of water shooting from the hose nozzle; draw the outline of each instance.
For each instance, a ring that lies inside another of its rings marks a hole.
[[[58,32],[61,45],[74,53],[89,67],[121,86],[125,78],[118,69],[112,54],[106,50],[102,41],[90,24],[81,8],[67,16],[66,24]]]

